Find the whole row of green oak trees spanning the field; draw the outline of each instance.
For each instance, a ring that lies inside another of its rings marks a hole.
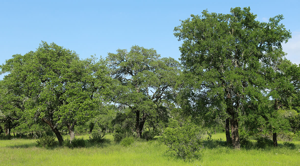
[[[284,58],[281,43],[291,33],[283,16],[255,19],[239,7],[191,15],[174,29],[182,64],[139,46],[99,60],[46,42],[13,55],[1,65],[0,135],[44,124],[62,144],[63,129],[72,140],[87,122],[90,132],[98,122],[143,137],[192,121],[223,128],[234,148],[240,129],[272,134],[277,146],[277,133],[300,128],[300,67]]]

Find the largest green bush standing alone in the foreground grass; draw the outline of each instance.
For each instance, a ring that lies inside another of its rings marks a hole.
[[[203,150],[204,130],[196,125],[185,124],[182,127],[167,128],[159,141],[175,151],[182,159],[200,157]]]

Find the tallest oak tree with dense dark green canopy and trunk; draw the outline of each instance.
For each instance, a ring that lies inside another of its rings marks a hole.
[[[174,35],[183,41],[179,48],[186,73],[201,96],[190,99],[196,112],[217,109],[230,119],[233,147],[239,148],[239,116],[266,96],[266,75],[285,53],[281,43],[291,37],[279,24],[282,15],[269,22],[256,21],[250,8],[232,8],[230,14],[202,12],[191,15],[175,27]],[[199,113],[201,114],[201,113]]]

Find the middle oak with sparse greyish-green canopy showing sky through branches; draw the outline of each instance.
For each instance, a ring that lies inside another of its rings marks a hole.
[[[136,114],[137,137],[150,119],[167,119],[164,102],[173,98],[173,87],[180,75],[180,64],[173,58],[160,58],[154,49],[139,46],[117,50],[107,57],[112,76],[118,80],[113,102],[129,107]]]

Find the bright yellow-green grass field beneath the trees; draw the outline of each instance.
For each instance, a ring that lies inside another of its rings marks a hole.
[[[83,137],[88,139],[88,136]],[[224,140],[224,137],[223,133],[212,135],[213,139]],[[112,135],[107,135],[106,139],[107,143],[98,147],[74,149],[40,148],[34,139],[0,140],[0,165],[300,165],[300,142],[295,141],[296,148],[293,149],[282,142],[276,148],[250,150],[205,146],[201,159],[183,161],[170,152],[165,153],[167,147],[157,141],[137,141],[129,147],[122,147],[113,142]]]

